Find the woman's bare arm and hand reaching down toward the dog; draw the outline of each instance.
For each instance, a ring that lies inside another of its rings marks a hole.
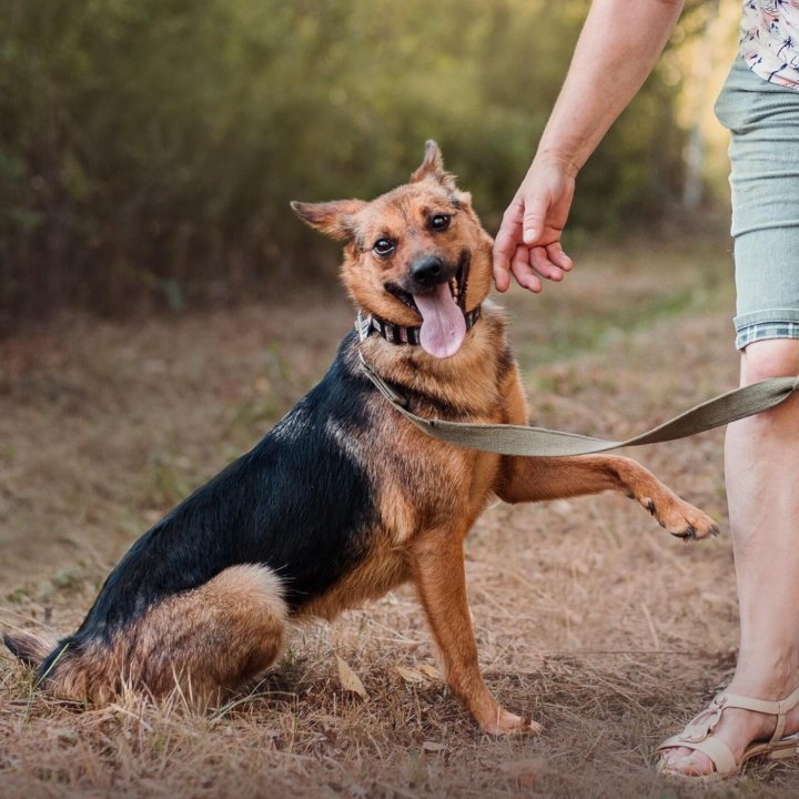
[[[682,0],[595,0],[533,163],[494,243],[494,281],[542,290],[572,269],[560,246],[575,176],[663,52]]]

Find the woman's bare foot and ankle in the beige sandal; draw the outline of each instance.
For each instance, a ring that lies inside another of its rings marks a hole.
[[[766,701],[778,701],[791,695],[796,689],[796,677],[793,684],[783,685],[776,689],[763,691],[749,687],[742,680],[734,680],[726,695],[737,695],[765,699]],[[786,714],[785,728],[780,738],[799,731],[799,698]],[[711,704],[711,708],[714,705]],[[704,719],[702,719],[704,720]],[[709,719],[714,721],[715,719]],[[778,717],[776,714],[756,712],[738,707],[724,707],[718,710],[718,720],[715,728],[708,734],[708,738],[720,740],[729,747],[735,762],[740,765],[744,755],[754,742],[767,742],[777,728]],[[677,773],[685,777],[707,777],[716,770],[714,761],[704,752],[689,747],[669,747],[661,750],[661,768],[669,773]]]

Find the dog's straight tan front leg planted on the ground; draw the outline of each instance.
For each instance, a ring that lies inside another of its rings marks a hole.
[[[486,732],[538,732],[536,722],[504,710],[483,681],[466,598],[462,536],[444,530],[423,534],[412,547],[411,566],[453,694]]]

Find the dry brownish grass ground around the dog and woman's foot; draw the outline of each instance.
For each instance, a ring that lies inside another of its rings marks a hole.
[[[512,296],[537,421],[626,436],[735,384],[721,247],[586,255]],[[114,326],[64,320],[0,344],[0,620],[67,630],[130,543],[250,446],[322,374],[352,312],[270,307]],[[310,324],[313,322],[313,324]],[[636,454],[722,526],[720,433]],[[198,717],[180,697],[59,705],[0,659],[2,797],[681,797],[651,752],[728,679],[730,545],[669,538],[617,497],[496,505],[469,542],[482,665],[537,738],[483,736],[435,674],[409,593],[299,629],[253,694]],[[343,690],[343,658],[366,699]],[[787,797],[755,766],[718,797]]]

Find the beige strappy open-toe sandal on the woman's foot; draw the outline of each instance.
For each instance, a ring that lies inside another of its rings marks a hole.
[[[797,705],[799,705],[799,686],[793,689],[792,694],[780,701],[750,699],[736,694],[719,694],[706,710],[695,716],[686,725],[681,732],[666,739],[657,748],[658,752],[677,747],[700,751],[710,758],[716,770],[708,775],[694,777],[669,768],[668,761],[663,757],[658,763],[658,770],[664,775],[685,777],[686,779],[719,780],[737,775],[744,768],[744,763],[755,757],[766,757],[770,760],[796,757],[799,755],[799,732],[785,738],[782,738],[782,732],[785,731],[788,711],[792,710]],[[761,740],[751,744],[744,752],[740,761],[736,761],[735,755],[732,755],[727,744],[714,735],[721,714],[727,708],[741,708],[777,717],[777,727],[771,738],[768,741]]]

